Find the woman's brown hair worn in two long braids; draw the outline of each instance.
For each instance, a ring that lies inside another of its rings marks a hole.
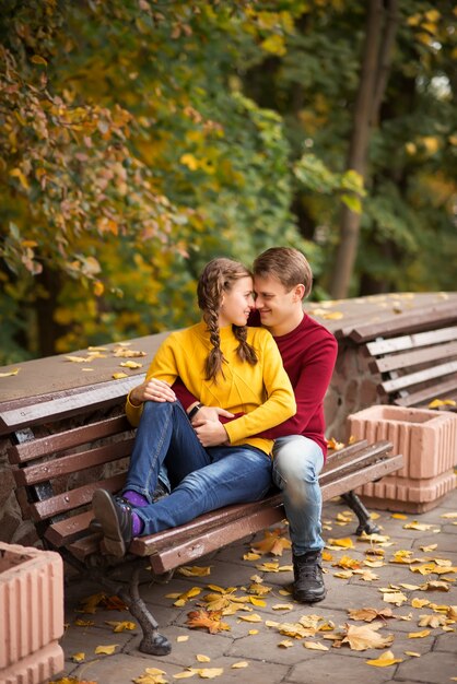
[[[222,364],[224,355],[221,350],[218,316],[221,310],[222,295],[232,290],[236,281],[242,278],[251,278],[250,271],[232,259],[223,257],[212,259],[204,267],[197,286],[198,306],[203,312],[203,320],[208,326],[212,350],[204,362],[206,380],[215,380],[219,373],[224,375]],[[233,332],[238,340],[237,354],[248,364],[257,363],[257,354],[248,344],[246,326],[233,326]]]

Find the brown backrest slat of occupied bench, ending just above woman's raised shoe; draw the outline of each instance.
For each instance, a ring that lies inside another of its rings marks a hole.
[[[122,486],[125,480],[126,474],[119,473],[108,477],[107,480],[92,482],[82,487],[75,487],[70,492],[57,494],[51,498],[44,499],[43,502],[30,504],[31,517],[35,521],[40,521],[73,508],[81,508],[92,502],[92,496],[95,490],[99,490],[102,487],[104,490],[108,490],[108,492],[117,492]]]

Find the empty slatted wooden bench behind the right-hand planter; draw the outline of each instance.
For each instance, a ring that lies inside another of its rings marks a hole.
[[[339,335],[364,345],[370,368],[380,375],[384,403],[426,408],[434,399],[457,403],[457,307],[443,303],[396,319],[361,323]],[[456,411],[456,405],[440,406]]]

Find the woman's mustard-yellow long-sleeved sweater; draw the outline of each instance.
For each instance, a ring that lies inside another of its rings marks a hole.
[[[251,366],[239,359],[238,341],[232,326],[221,328],[223,372],[216,381],[204,380],[204,359],[211,351],[207,325],[172,332],[160,346],[147,379],[156,378],[173,385],[179,376],[187,389],[206,406],[221,406],[232,413],[245,413],[227,424],[231,445],[249,444],[270,453],[273,440],[251,437],[274,427],[295,414],[296,404],[289,376],[282,366],[278,346],[265,328],[248,328],[247,341],[257,352]],[[127,398],[126,412],[132,425],[140,422],[143,404],[134,406]]]

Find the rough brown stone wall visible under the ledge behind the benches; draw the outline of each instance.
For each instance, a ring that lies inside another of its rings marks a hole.
[[[336,369],[325,400],[328,438],[345,441],[349,437],[348,415],[380,403],[376,392],[379,379],[370,370],[361,347],[350,341],[340,342]],[[9,543],[33,545],[37,543],[37,538],[33,524],[22,520],[14,493],[14,479],[8,463],[8,439],[0,437],[0,539]]]

